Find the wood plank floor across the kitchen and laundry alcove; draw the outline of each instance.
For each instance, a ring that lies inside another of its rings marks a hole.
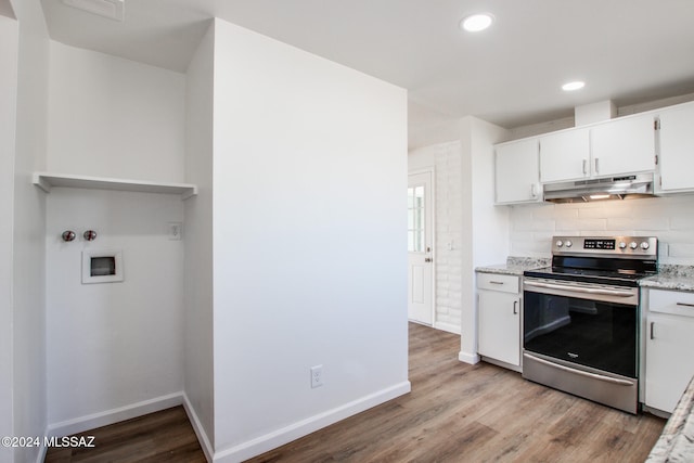
[[[410,323],[412,393],[249,462],[643,462],[665,425],[461,363],[459,350],[460,336]],[[97,448],[46,461],[205,461],[180,407],[82,435]]]

